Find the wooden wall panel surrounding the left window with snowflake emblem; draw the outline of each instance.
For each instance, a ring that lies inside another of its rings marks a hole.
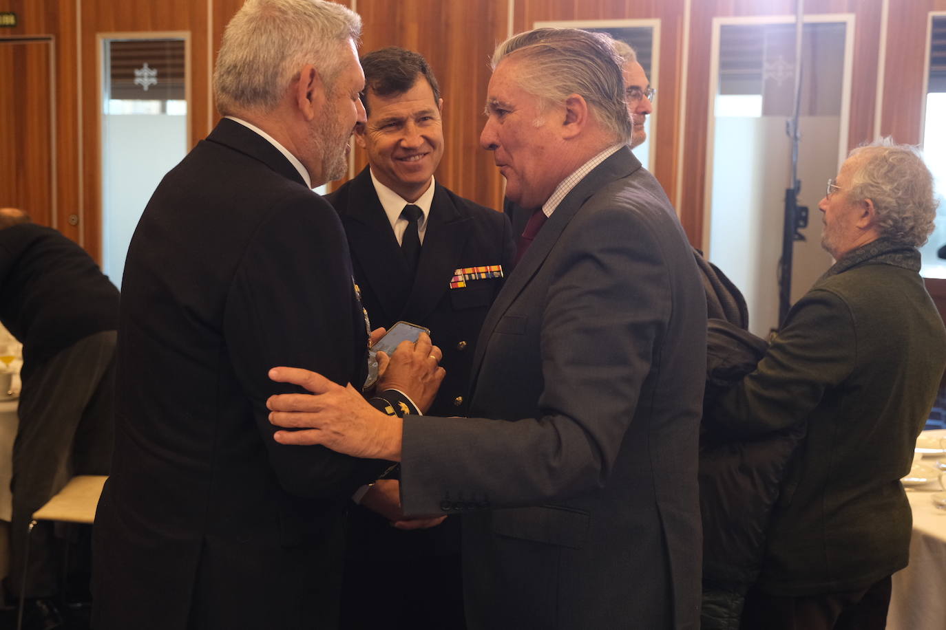
[[[189,32],[191,145],[209,131],[208,98],[208,10],[207,4],[190,0],[114,3],[112,0],[81,1],[81,100],[82,151],[84,156],[83,218],[84,246],[96,259],[101,252],[101,116],[98,106],[101,69],[98,67],[99,33]]]

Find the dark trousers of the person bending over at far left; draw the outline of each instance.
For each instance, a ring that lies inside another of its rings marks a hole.
[[[26,537],[33,512],[77,474],[108,474],[114,442],[115,332],[96,332],[33,369],[23,383],[13,442],[13,512],[6,581],[16,597],[49,597],[59,590],[60,553],[53,523],[39,522]]]

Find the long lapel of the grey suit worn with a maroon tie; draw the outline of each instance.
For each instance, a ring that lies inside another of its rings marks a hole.
[[[482,323],[480,340],[476,345],[476,354],[473,356],[471,383],[476,383],[482,365],[483,353],[486,351],[487,341],[489,336],[492,335],[493,329],[496,328],[497,323],[506,314],[510,305],[541,268],[545,259],[549,256],[549,252],[552,251],[552,247],[555,247],[562,232],[568,227],[571,219],[581,210],[585,202],[604,185],[615,179],[627,177],[639,168],[640,162],[638,159],[634,157],[629,148],[624,146],[588,173],[585,179],[579,181],[558,204],[555,212],[539,230],[532,245],[513,269],[513,273],[502,285],[492,308],[486,314],[486,318]]]

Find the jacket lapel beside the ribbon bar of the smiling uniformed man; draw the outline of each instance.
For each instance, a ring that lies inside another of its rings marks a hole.
[[[424,247],[420,250],[411,297],[404,306],[402,319],[423,321],[443,298],[453,270],[460,264],[469,237],[465,226],[470,220],[453,204],[444,187],[437,184],[430,204]]]

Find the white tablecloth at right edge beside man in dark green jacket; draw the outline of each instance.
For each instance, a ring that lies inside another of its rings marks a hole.
[[[946,437],[946,430],[923,434]],[[923,458],[924,464],[936,462],[937,455]],[[910,565],[894,573],[887,630],[946,629],[946,510],[933,504],[934,491],[941,491],[938,483],[907,492],[913,510]]]

